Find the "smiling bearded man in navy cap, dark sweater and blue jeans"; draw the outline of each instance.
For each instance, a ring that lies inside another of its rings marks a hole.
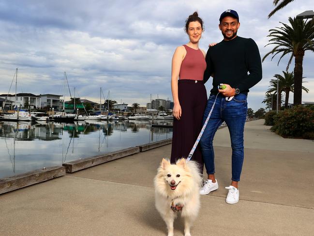
[[[224,40],[209,47],[206,55],[207,68],[204,73],[204,82],[209,79],[210,75],[213,75],[213,88],[210,90],[203,123],[214,103],[215,106],[200,140],[208,174],[208,180],[205,181],[200,194],[209,194],[218,189],[212,141],[217,128],[225,121],[232,147],[232,181],[230,186],[226,187],[229,190],[226,203],[235,204],[239,202],[238,182],[244,157],[243,132],[247,114],[246,99],[249,89],[262,79],[262,64],[254,40],[237,36],[240,23],[236,11],[226,10],[221,14],[219,22],[219,29]],[[224,84],[226,88],[218,89],[220,84]]]

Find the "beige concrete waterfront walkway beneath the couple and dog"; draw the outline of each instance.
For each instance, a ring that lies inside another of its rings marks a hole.
[[[220,188],[201,196],[193,236],[310,236],[314,232],[314,142],[283,139],[263,120],[245,125],[240,201],[225,203],[231,175],[227,128],[216,133]],[[171,145],[0,195],[2,236],[163,236],[153,177]],[[175,235],[183,235],[180,219]]]

